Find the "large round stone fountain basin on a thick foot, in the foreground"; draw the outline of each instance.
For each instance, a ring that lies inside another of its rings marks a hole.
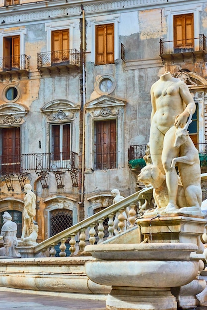
[[[171,287],[190,283],[198,274],[199,259],[191,259],[194,244],[90,245],[94,261],[85,263],[95,283],[112,286],[108,310],[177,310]]]

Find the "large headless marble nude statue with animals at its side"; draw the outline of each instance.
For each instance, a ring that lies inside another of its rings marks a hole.
[[[196,110],[189,88],[165,72],[151,87],[151,103],[152,164],[141,170],[138,179],[146,178],[143,172],[150,170],[157,212],[202,215],[199,153],[187,131]]]

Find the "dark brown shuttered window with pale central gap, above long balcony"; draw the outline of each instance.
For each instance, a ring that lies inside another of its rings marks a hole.
[[[70,124],[51,125],[51,153],[53,160],[69,159]]]

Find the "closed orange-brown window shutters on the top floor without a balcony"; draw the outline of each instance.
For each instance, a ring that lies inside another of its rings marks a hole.
[[[114,24],[96,26],[96,64],[114,63]]]

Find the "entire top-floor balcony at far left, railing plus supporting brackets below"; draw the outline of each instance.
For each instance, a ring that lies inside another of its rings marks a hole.
[[[16,55],[16,56],[4,56],[0,57],[0,79],[9,76],[12,80],[13,75],[17,75],[18,79],[23,74],[29,77],[29,56],[27,55]]]

